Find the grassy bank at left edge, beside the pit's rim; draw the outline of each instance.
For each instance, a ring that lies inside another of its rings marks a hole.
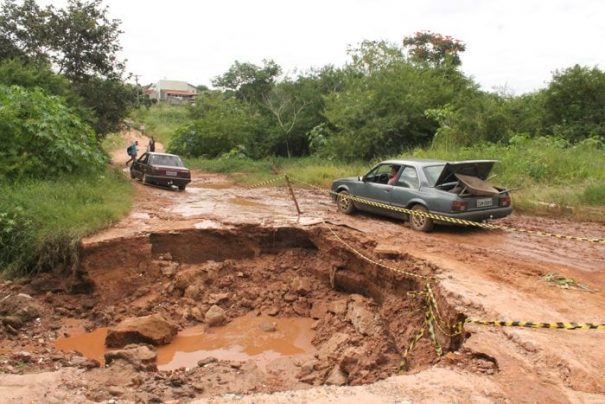
[[[0,186],[0,271],[24,275],[73,263],[79,240],[130,209],[133,189],[117,170]]]

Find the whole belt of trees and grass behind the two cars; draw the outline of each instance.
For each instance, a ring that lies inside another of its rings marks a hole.
[[[131,117],[192,168],[236,182],[287,172],[327,187],[384,158],[496,159],[493,181],[517,209],[605,222],[605,72],[576,65],[533,93],[488,92],[460,70],[464,50],[421,32],[295,77],[235,62],[195,105]]]

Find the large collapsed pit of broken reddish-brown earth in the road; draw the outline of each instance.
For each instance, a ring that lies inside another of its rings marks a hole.
[[[353,233],[340,234],[361,250],[374,246]],[[424,277],[436,269],[408,256],[383,257],[382,262]],[[181,330],[198,327],[199,338],[218,333],[213,331],[218,330],[215,325],[250,316],[268,319],[248,326],[258,327],[250,335],[252,341],[255,333],[261,339],[288,328],[287,323],[271,319],[312,320],[303,332],[310,333],[310,349],[300,355],[279,355],[273,361],[265,355],[260,367],[254,355],[246,362],[234,362],[228,355],[225,360],[202,360],[199,367],[171,372],[130,369],[116,360],[105,368],[88,364],[93,369],[86,373],[86,389],[92,399],[102,399],[99,387],[109,382],[124,389],[120,393],[124,397],[145,398],[139,397],[145,392],[146,398],[163,399],[371,383],[401,371],[402,355],[425,326],[427,311],[425,278],[389,271],[360,258],[325,227],[248,225],[108,240],[83,248],[74,277],[79,279],[77,291],[84,293],[67,294],[60,288],[42,293],[35,285],[23,286],[43,305],[37,327],[50,341],[65,337],[70,321],[83,322],[86,330],[93,331],[151,314],[162,315]],[[432,291],[443,322],[459,321],[460,314],[447,305],[438,285],[433,283]],[[213,307],[223,316],[219,322],[208,315]],[[242,333],[242,328],[235,332]],[[439,328],[434,333],[444,351],[462,344],[462,335],[450,336]],[[2,337],[18,349],[13,336],[5,332]],[[419,369],[438,361],[434,342],[421,338],[408,355],[407,366]],[[63,351],[45,349],[54,356],[31,360],[23,371],[73,362]],[[121,377],[114,380],[110,373]]]

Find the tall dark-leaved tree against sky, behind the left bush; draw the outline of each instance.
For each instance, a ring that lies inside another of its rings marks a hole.
[[[0,60],[18,56],[35,67],[50,64],[94,112],[90,122],[102,137],[118,128],[134,99],[125,97],[131,90],[121,83],[119,26],[119,20],[108,17],[102,0],[69,0],[64,9],[41,8],[34,0],[4,0]]]

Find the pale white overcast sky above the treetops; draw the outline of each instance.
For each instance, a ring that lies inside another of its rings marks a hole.
[[[65,0],[40,0],[62,7]],[[462,69],[483,89],[546,86],[574,64],[605,68],[603,0],[105,0],[122,21],[128,70],[210,85],[235,61],[287,72],[343,65],[364,39],[429,30],[462,40]]]

